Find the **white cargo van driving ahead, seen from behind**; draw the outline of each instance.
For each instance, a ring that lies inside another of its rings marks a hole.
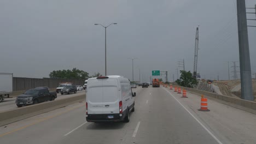
[[[130,121],[135,111],[136,93],[123,76],[100,76],[88,79],[86,89],[86,121]]]

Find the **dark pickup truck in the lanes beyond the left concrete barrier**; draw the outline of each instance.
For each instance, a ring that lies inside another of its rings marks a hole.
[[[28,89],[25,93],[19,95],[16,99],[18,107],[51,101],[57,98],[56,92],[49,92],[46,88]]]

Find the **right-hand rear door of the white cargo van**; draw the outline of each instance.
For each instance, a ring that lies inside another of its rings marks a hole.
[[[103,99],[102,113],[119,113],[119,87],[118,79],[103,79],[102,81]]]

